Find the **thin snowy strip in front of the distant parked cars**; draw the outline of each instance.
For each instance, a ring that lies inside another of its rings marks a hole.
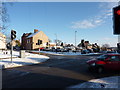
[[[100,53],[89,53],[89,54],[81,54],[81,52],[50,52],[50,51],[31,51],[31,52],[37,52],[37,53],[46,53],[46,54],[52,54],[52,55],[95,55]]]

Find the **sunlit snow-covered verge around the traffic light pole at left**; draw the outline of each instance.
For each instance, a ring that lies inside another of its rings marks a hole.
[[[13,51],[14,58],[11,62],[10,51],[8,51],[8,54],[3,54],[3,52],[0,51],[0,69],[37,64],[49,59],[47,56],[38,54],[25,53],[25,55],[25,58],[18,58],[19,52]]]

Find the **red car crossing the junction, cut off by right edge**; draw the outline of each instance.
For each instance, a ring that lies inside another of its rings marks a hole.
[[[120,71],[120,54],[105,54],[87,61],[90,70],[102,73],[104,70]]]

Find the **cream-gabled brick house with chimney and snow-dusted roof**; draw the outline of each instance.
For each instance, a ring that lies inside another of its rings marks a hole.
[[[48,36],[46,36],[43,31],[38,31],[37,29],[34,29],[34,33],[24,33],[21,40],[21,47],[25,50],[46,47],[46,44],[49,43]],[[42,44],[38,45],[38,40],[41,40]]]

